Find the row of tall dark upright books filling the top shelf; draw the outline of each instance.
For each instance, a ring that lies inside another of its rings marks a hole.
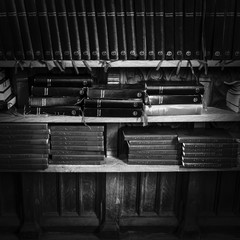
[[[1,59],[239,59],[237,0],[5,0]]]

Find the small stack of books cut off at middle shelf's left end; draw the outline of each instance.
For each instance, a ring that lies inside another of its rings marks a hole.
[[[0,110],[7,110],[14,106],[16,97],[14,96],[10,84],[10,79],[5,76],[4,71],[0,72]]]

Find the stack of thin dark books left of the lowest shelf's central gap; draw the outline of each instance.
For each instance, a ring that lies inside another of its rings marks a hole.
[[[52,125],[50,164],[99,165],[104,162],[104,126]]]

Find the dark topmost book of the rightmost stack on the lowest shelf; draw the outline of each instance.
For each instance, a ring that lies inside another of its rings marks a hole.
[[[234,143],[236,140],[223,129],[195,128],[179,130],[178,141],[180,143]],[[210,145],[208,145],[210,146]]]

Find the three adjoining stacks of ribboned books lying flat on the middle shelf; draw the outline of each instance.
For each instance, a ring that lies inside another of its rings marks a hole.
[[[91,77],[34,78],[30,112],[87,117],[200,114],[204,86],[196,81],[93,85]]]

